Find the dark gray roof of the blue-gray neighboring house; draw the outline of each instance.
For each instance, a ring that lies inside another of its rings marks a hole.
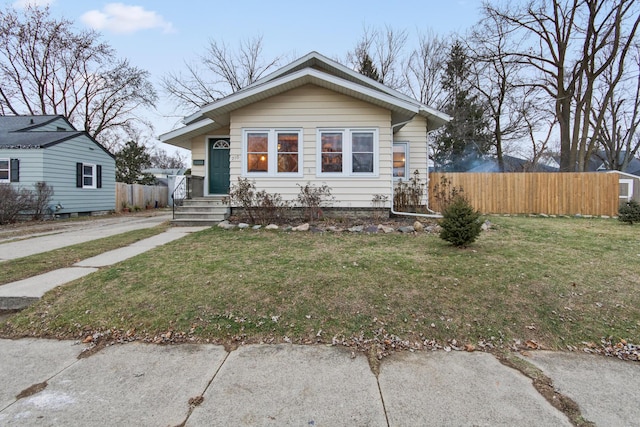
[[[72,130],[42,130],[46,125],[60,120],[64,121]],[[64,116],[0,116],[0,148],[47,148],[78,136],[86,136],[91,142],[114,157],[87,132],[76,130]]]

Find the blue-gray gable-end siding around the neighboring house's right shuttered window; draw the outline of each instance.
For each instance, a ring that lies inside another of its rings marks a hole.
[[[44,180],[53,186],[52,202],[60,213],[115,209],[115,160],[86,136],[61,142],[44,150]],[[102,166],[102,188],[77,188],[76,163]]]

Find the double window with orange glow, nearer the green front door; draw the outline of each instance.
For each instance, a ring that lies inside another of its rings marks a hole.
[[[246,175],[300,176],[301,130],[245,130],[243,141]]]

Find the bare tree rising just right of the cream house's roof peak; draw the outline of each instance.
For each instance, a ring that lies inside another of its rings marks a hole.
[[[404,86],[399,67],[406,42],[405,30],[399,31],[389,26],[385,26],[384,30],[364,27],[360,41],[353,51],[347,53],[347,64],[358,69],[362,58],[368,57],[377,70],[378,81],[399,90]]]

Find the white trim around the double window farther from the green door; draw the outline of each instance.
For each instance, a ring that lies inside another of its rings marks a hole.
[[[342,172],[322,172],[322,133],[342,133]],[[352,135],[373,133],[373,172],[353,172]],[[380,138],[377,128],[318,128],[316,130],[316,177],[377,178],[380,176]]]

